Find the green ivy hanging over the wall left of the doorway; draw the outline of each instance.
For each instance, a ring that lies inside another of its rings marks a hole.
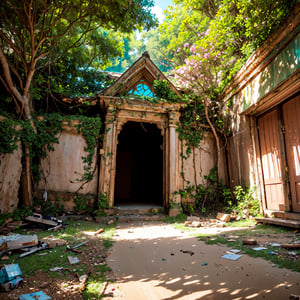
[[[84,174],[78,181],[90,181],[93,178],[92,163],[95,147],[102,139],[102,122],[99,118],[85,116],[62,116],[57,113],[42,114],[34,117],[33,122],[36,132],[29,121],[5,119],[0,122],[0,152],[13,153],[20,141],[27,149],[31,160],[32,178],[35,183],[41,180],[39,170],[40,161],[46,157],[47,151],[53,151],[53,144],[59,143],[59,133],[62,132],[64,121],[71,124],[72,120],[78,120],[76,126],[79,134],[82,134],[86,141],[84,151],[86,156],[81,157],[85,166]],[[17,129],[18,128],[18,129]]]

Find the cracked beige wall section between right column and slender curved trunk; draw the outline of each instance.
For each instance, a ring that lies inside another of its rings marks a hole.
[[[182,150],[185,154],[184,143]],[[205,184],[204,176],[210,173],[210,170],[216,166],[216,146],[212,134],[205,134],[198,148],[188,156],[187,159],[181,158],[181,169],[184,173],[182,186]],[[183,202],[189,202],[190,199],[182,199]]]

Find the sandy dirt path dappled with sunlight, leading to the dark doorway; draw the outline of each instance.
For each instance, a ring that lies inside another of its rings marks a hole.
[[[120,224],[114,240],[108,264],[118,299],[274,300],[300,294],[299,273],[248,255],[224,259],[228,247],[206,245],[172,225]]]

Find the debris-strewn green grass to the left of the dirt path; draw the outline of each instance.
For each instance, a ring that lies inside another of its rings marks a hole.
[[[53,238],[63,239],[67,241],[67,243],[70,246],[75,246],[83,241],[89,240],[90,236],[92,235],[91,233],[97,231],[101,226],[104,229],[104,233],[103,235],[101,235],[101,237],[98,237],[98,240],[96,240],[96,242],[101,243],[102,241],[102,245],[105,247],[106,250],[110,248],[113,244],[112,236],[115,231],[115,223],[109,226],[102,226],[98,223],[84,220],[68,220],[67,223],[68,225],[65,227],[65,229],[58,230],[55,232],[49,232],[47,230],[38,229],[35,231],[28,230],[26,233],[24,233],[24,231],[18,230],[18,233],[36,234],[38,236],[38,240],[42,240],[45,237],[49,237],[49,235],[53,235]],[[88,244],[89,242],[87,243],[87,245]],[[78,249],[84,251],[85,247],[87,246],[84,245]],[[47,254],[43,256],[39,255],[43,253]],[[67,251],[66,246],[56,247],[53,249],[46,249],[21,259],[19,259],[18,256],[19,254],[11,255],[10,259],[5,261],[5,264],[18,263],[22,271],[23,278],[36,274],[36,271],[38,270],[47,273],[52,278],[65,278],[65,276],[68,274],[67,271],[49,272],[49,269],[54,267],[68,268],[71,271],[71,273],[77,272],[79,275],[87,274],[89,271],[89,265],[86,264],[86,262],[80,262],[78,264],[70,265],[68,261],[68,256],[78,256],[79,260],[84,260],[86,257],[84,256],[84,252],[83,254],[76,255],[76,253]],[[106,282],[105,272],[110,270],[110,268],[107,267],[107,265],[105,264],[94,266],[94,269],[95,271],[92,272],[92,274],[90,274],[88,277],[86,290],[83,293],[85,299],[100,299],[97,297],[102,291],[103,284]]]

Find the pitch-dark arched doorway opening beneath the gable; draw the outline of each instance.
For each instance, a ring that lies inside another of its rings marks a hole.
[[[155,124],[123,126],[118,136],[115,205],[163,205],[162,145]]]

